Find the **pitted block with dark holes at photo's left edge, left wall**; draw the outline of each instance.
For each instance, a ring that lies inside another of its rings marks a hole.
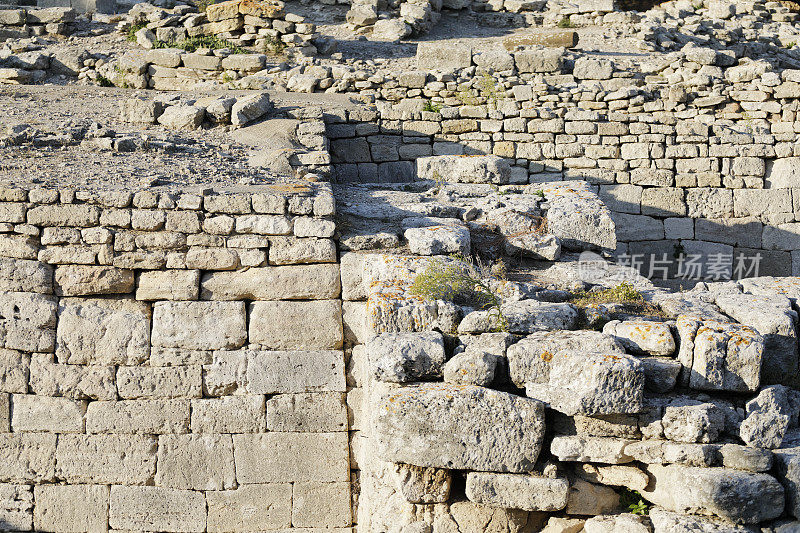
[[[55,298],[25,292],[0,293],[0,347],[52,352],[55,325]]]

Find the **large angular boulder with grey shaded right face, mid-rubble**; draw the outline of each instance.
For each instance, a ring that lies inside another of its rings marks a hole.
[[[553,355],[546,383],[525,383],[525,394],[566,415],[639,413],[644,366],[623,353],[564,350]]]

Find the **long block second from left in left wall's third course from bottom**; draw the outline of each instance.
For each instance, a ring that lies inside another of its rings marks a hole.
[[[188,400],[123,400],[91,402],[86,409],[87,433],[188,433]]]

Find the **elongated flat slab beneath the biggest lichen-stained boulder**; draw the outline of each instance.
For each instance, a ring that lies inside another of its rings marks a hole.
[[[493,507],[523,511],[560,511],[567,506],[566,479],[526,474],[469,472],[467,498]]]

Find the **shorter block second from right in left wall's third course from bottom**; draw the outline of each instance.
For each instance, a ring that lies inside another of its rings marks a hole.
[[[261,433],[265,413],[260,395],[192,400],[192,433]]]

